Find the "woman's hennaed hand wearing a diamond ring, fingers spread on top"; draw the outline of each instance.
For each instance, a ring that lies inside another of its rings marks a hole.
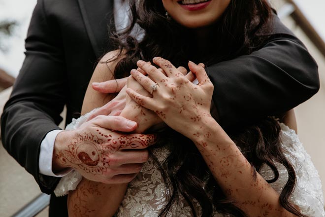
[[[169,61],[156,57],[153,62],[165,74],[144,61],[138,61],[137,66],[151,79],[137,70],[131,71],[133,78],[148,92],[153,91],[153,97],[143,96],[129,88],[126,92],[139,105],[155,111],[168,126],[189,138],[192,137],[193,129],[200,127],[206,117],[211,118],[213,84],[204,68],[192,62],[189,62],[189,68],[198,79],[197,85],[190,82]],[[153,90],[155,83],[157,89]]]

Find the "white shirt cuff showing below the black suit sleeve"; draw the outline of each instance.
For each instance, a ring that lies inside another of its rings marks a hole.
[[[72,170],[64,170],[59,174],[54,174],[52,171],[54,142],[61,131],[62,130],[53,130],[51,132],[48,132],[41,143],[38,160],[40,174],[51,177],[64,177]]]

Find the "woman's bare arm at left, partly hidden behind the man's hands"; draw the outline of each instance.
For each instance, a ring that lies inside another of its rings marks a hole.
[[[114,57],[115,54],[114,51],[106,54],[98,63],[87,88],[82,106],[82,114],[105,105],[113,98],[113,96],[94,91],[91,87],[91,83],[113,79],[113,72],[117,61],[107,64],[105,62]],[[108,73],[107,68],[109,68],[112,73]],[[143,88],[133,80],[132,77],[130,77],[128,81],[128,86],[141,94],[146,94],[145,90],[141,92]],[[129,96],[127,97],[129,98]],[[136,132],[143,132],[160,119],[155,113],[139,107],[136,103],[131,101],[130,98],[127,99],[126,106],[120,115],[138,123]],[[142,118],[142,116],[146,118]],[[138,166],[141,167],[140,164]],[[70,191],[68,194],[69,216],[80,216],[82,214],[94,217],[113,216],[124,197],[127,185],[128,183],[104,184],[83,179],[78,184],[76,190]]]

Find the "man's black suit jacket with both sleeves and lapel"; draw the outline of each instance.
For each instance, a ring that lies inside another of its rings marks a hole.
[[[64,105],[67,123],[80,112],[97,60],[109,51],[112,15],[113,0],[37,0],[1,135],[45,193],[52,193],[59,179],[38,172],[41,141],[58,129]],[[319,89],[317,65],[304,45],[275,15],[274,26],[260,50],[207,69],[225,128],[291,109]]]

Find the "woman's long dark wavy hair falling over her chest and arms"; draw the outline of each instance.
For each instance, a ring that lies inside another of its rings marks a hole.
[[[116,58],[109,60],[119,58],[114,71],[116,78],[128,76],[130,70],[136,68],[138,60],[151,61],[156,56],[169,60],[176,67],[185,67],[189,60],[209,66],[250,54],[268,40],[272,30],[272,9],[267,0],[230,0],[222,17],[212,25],[209,34],[211,44],[202,54],[193,44],[194,30],[166,18],[162,0],[130,0],[130,8],[130,27],[119,34],[111,33],[110,46],[120,50]],[[131,34],[135,25],[144,31],[141,40]],[[280,204],[296,216],[305,217],[289,202],[296,175],[281,148],[280,132],[280,126],[274,119],[265,118],[241,132],[228,133],[252,164],[255,173],[263,164],[273,170],[274,178],[268,180],[269,183],[279,178],[276,163],[285,166],[289,179],[280,194]],[[211,217],[214,211],[236,217],[246,216],[235,201],[226,197],[192,141],[170,128],[161,134],[163,137],[157,145],[169,144],[170,154],[163,163],[151,154],[168,188],[168,202],[160,216],[168,214],[171,206],[177,204],[179,195],[189,203],[195,217],[194,201],[200,205],[202,217]]]

